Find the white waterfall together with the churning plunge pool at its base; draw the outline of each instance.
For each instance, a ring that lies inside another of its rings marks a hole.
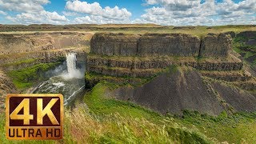
[[[64,105],[70,103],[85,88],[84,70],[76,68],[76,54],[66,54],[66,69],[40,83],[33,94],[62,94]]]

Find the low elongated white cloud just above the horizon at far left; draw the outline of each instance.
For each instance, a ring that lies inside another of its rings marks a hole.
[[[7,16],[12,22],[22,24],[33,24],[33,23],[49,23],[49,24],[62,24],[69,20],[64,15],[59,15],[57,12],[49,12],[46,10],[39,11],[38,13],[22,13],[17,14],[15,17]]]

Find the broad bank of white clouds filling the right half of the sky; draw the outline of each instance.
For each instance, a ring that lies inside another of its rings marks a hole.
[[[162,25],[222,25],[251,24],[256,14],[256,0],[235,3],[232,0],[146,0],[141,19],[135,22],[154,22]]]

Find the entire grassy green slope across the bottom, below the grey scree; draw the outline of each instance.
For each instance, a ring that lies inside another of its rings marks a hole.
[[[166,116],[131,102],[111,98],[113,83],[100,82],[65,110],[64,138],[57,143],[254,143],[256,113],[218,116],[185,110],[182,116]],[[88,106],[88,109],[87,109]],[[0,138],[5,138],[5,115],[0,114]],[[24,141],[23,143],[56,143]]]

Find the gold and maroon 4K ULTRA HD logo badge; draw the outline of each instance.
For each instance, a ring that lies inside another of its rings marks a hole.
[[[62,94],[8,94],[6,138],[62,139]]]

